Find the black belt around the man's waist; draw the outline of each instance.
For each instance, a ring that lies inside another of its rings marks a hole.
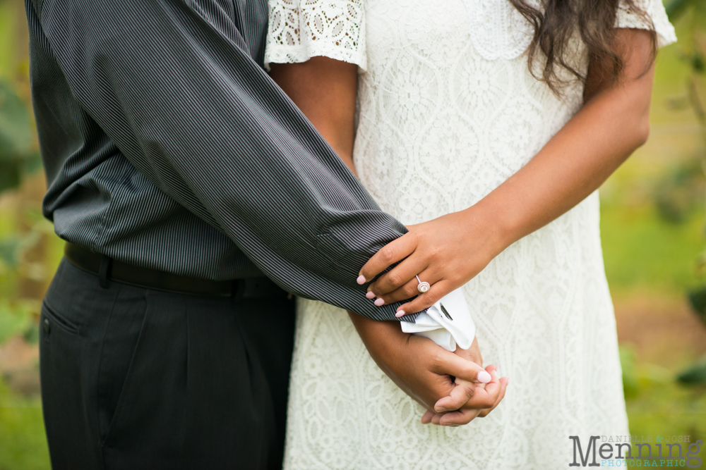
[[[287,295],[287,292],[265,277],[234,280],[190,278],[126,264],[109,256],[90,252],[73,243],[66,243],[64,256],[71,264],[96,274],[102,287],[108,287],[109,280],[115,280],[136,287],[208,297],[257,298]]]

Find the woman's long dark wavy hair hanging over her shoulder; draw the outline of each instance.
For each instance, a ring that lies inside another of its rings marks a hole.
[[[537,80],[546,82],[552,91],[559,92],[566,80],[560,80],[557,68],[568,70],[575,78],[585,80],[585,76],[566,61],[566,48],[573,33],[578,30],[586,44],[589,58],[602,64],[604,73],[616,82],[623,70],[621,51],[623,44],[616,39],[616,14],[619,0],[542,0],[542,8],[532,6],[527,0],[510,0],[522,16],[534,26],[534,37],[527,54],[530,72]],[[634,0],[626,0],[627,6],[638,16],[652,23],[645,11],[635,5]],[[652,32],[652,48],[656,51],[657,36]],[[534,68],[537,53],[546,57],[541,73]]]

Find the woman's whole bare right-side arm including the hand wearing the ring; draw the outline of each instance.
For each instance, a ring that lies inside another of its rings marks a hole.
[[[369,286],[377,305],[417,295],[417,279],[428,292],[402,305],[413,314],[477,275],[513,242],[566,213],[598,189],[650,130],[652,38],[645,30],[618,30],[625,66],[618,82],[610,63],[590,62],[585,104],[525,166],[464,211],[414,225],[363,266],[358,282]],[[401,315],[400,315],[401,316]]]

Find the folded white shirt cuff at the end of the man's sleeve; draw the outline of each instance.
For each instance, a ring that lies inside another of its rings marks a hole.
[[[467,350],[476,336],[476,325],[460,289],[441,297],[426,313],[419,314],[414,323],[400,321],[400,325],[405,333],[429,338],[452,352],[456,350],[456,346]]]

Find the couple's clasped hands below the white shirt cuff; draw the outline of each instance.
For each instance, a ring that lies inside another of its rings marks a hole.
[[[449,410],[461,406],[486,409],[501,400],[504,385],[477,363],[443,350],[427,338],[402,332],[396,321],[373,321],[352,312],[349,316],[376,364],[426,409],[434,409],[439,400],[445,400],[442,404]],[[475,351],[472,354],[479,357],[477,343]],[[454,378],[462,386],[454,383]],[[482,392],[476,391],[479,385],[484,385]],[[457,426],[475,416],[460,413],[440,423]]]

